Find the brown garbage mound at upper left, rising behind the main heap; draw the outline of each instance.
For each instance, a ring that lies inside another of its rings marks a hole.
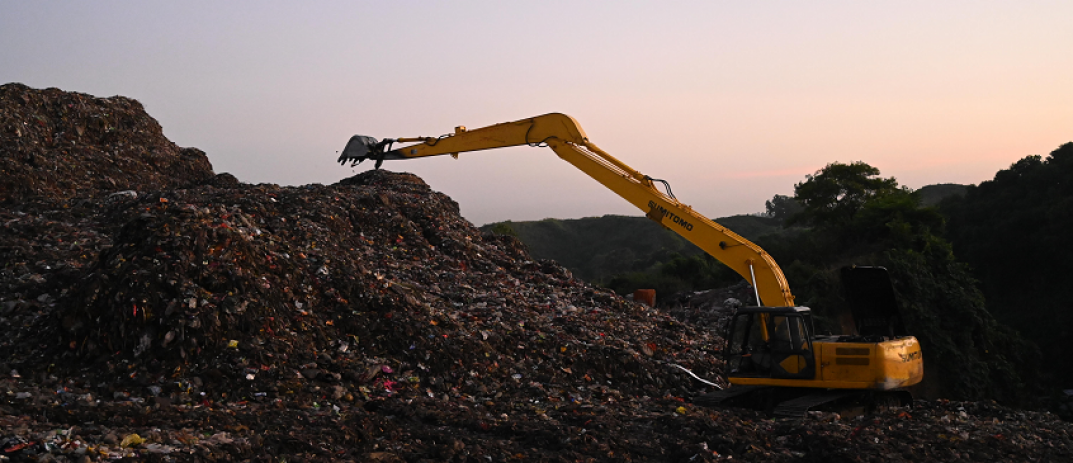
[[[175,188],[212,176],[137,101],[0,86],[0,203]]]

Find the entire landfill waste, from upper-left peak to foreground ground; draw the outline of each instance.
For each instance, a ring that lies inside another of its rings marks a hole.
[[[0,136],[0,461],[1073,459],[990,403],[694,405],[725,308],[588,285],[410,174],[241,183],[133,100],[17,84]]]

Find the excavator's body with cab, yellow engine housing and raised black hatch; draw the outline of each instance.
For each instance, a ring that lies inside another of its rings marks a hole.
[[[848,267],[842,281],[856,322],[853,333],[814,334],[808,308],[739,309],[731,317],[723,349],[726,380],[734,385],[730,390],[741,393],[750,389],[739,386],[749,386],[844,391],[806,400],[815,405],[820,402],[813,399],[834,400],[853,390],[903,391],[920,383],[920,343],[905,334],[886,269]]]

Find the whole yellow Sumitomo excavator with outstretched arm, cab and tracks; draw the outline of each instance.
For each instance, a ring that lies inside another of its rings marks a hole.
[[[394,148],[395,144],[411,144]],[[512,146],[549,147],[652,221],[677,233],[750,283],[756,307],[738,309],[727,325],[724,374],[732,387],[699,402],[765,403],[778,416],[802,416],[834,403],[907,403],[907,388],[920,383],[924,363],[916,338],[907,335],[894,289],[881,267],[848,267],[842,282],[857,332],[817,335],[808,308],[795,307],[782,270],[764,250],[680,203],[671,185],[607,154],[572,117],[548,114],[438,137],[387,138],[355,135],[339,163],[356,165]],[[393,149],[394,148],[394,149]],[[658,185],[663,186],[661,191]]]

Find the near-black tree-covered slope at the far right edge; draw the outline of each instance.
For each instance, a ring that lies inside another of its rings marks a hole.
[[[1073,388],[1073,143],[1026,156],[942,203],[947,236],[997,318],[1037,342],[1044,370]]]

